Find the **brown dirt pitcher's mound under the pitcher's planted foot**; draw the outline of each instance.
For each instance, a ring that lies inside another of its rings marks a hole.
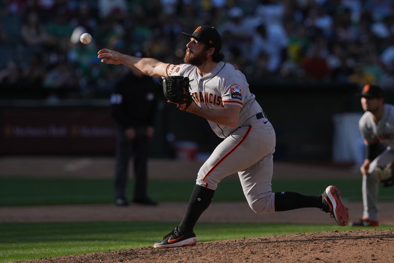
[[[274,235],[197,243],[192,247],[121,251],[67,256],[32,263],[238,263],[394,261],[394,231],[367,229]]]

